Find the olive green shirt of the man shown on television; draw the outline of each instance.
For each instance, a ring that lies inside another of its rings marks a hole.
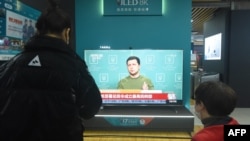
[[[137,78],[132,78],[130,76],[127,76],[121,79],[118,83],[117,89],[139,89],[141,90],[144,82],[148,84],[149,90],[154,89],[154,85],[151,82],[151,80],[142,75],[140,75]]]

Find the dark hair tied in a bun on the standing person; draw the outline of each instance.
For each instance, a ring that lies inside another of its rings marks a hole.
[[[60,34],[65,28],[71,27],[69,15],[60,9],[58,1],[48,0],[49,6],[37,20],[36,28],[39,34]]]

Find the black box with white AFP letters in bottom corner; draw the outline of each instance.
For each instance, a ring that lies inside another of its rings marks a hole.
[[[249,141],[250,125],[224,125],[224,141]]]

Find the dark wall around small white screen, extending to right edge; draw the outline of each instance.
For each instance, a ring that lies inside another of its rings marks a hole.
[[[204,37],[220,32],[223,35],[221,60],[203,60],[204,70],[219,72],[221,81],[237,92],[237,107],[243,108],[250,107],[249,17],[250,10],[222,9],[204,24]]]

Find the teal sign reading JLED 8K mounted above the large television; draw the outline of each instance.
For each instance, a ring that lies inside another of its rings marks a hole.
[[[105,16],[162,15],[162,0],[103,0]]]

